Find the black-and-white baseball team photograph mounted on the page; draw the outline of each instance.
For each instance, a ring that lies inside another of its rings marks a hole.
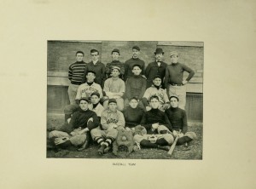
[[[202,42],[48,41],[47,158],[202,159]]]

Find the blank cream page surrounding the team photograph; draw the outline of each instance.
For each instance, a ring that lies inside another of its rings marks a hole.
[[[254,188],[254,1],[0,7],[1,188]],[[47,40],[204,42],[203,160],[47,159]]]

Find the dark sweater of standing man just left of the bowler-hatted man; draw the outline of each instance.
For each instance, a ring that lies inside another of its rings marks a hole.
[[[132,71],[132,66],[134,65],[139,65],[142,68],[142,75],[144,75],[145,72],[145,62],[143,60],[140,60],[139,58],[134,59],[131,58],[130,60],[125,61],[125,81],[127,78],[132,77],[133,73]]]

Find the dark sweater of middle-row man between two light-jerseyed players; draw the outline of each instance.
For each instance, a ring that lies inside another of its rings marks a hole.
[[[137,97],[139,100],[143,98],[147,86],[147,80],[139,75],[132,76],[127,79],[126,82],[126,97],[131,99],[132,97]]]

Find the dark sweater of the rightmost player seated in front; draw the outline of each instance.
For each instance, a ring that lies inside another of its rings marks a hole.
[[[183,109],[170,107],[166,110],[166,117],[168,117],[172,129],[182,129],[183,134],[188,131],[187,115]]]

